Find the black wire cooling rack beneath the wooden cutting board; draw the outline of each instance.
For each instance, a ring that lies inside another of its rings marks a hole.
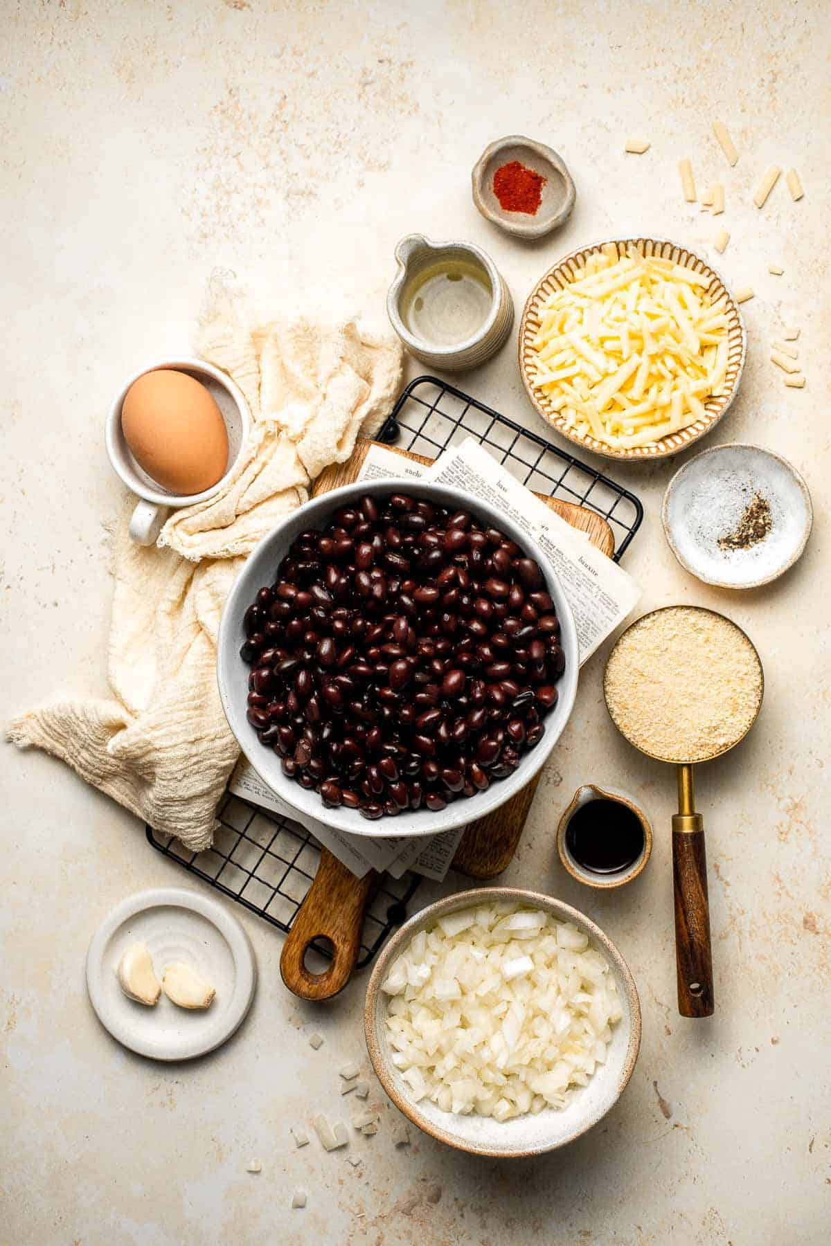
[[[614,533],[614,559],[629,546],[643,506],[627,488],[558,446],[435,376],[410,381],[378,440],[437,459],[465,437],[476,437],[517,480],[537,493],[588,506]],[[288,933],[314,881],[320,847],[298,822],[226,792],[213,846],[189,852],[178,840],[147,827],[148,842],[189,873]],[[364,922],[358,968],[373,959],[394,926],[406,920],[420,880],[382,875]],[[324,957],[330,952],[315,944]]]

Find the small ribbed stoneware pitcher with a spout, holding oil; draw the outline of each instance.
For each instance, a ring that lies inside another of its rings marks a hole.
[[[513,299],[496,264],[481,247],[472,242],[432,242],[424,234],[409,234],[395,248],[395,258],[399,269],[386,295],[386,312],[390,324],[411,355],[441,371],[461,373],[483,364],[505,345],[513,325]],[[491,308],[486,320],[466,341],[456,341],[449,346],[417,338],[404,323],[401,314],[410,283],[426,268],[442,260],[471,264],[491,292]]]

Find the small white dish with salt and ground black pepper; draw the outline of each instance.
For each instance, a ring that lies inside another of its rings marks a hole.
[[[761,446],[705,450],[675,472],[663,525],[681,567],[718,588],[759,588],[792,567],[814,511],[796,468]]]

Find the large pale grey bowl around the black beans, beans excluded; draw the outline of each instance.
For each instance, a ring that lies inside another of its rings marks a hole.
[[[324,822],[338,831],[349,831],[353,835],[371,835],[376,839],[391,835],[436,835],[439,831],[450,831],[456,826],[466,826],[473,819],[483,817],[486,814],[498,809],[511,796],[525,787],[544,765],[568,721],[577,694],[577,672],[579,665],[577,630],[571,607],[551,563],[539,546],[526,536],[503,511],[497,511],[460,490],[419,481],[412,487],[415,496],[450,506],[455,511],[471,511],[480,520],[486,521],[486,526],[496,527],[505,532],[512,541],[522,546],[531,558],[534,558],[539,563],[546,579],[546,589],[553,598],[557,617],[559,618],[561,644],[566,654],[566,670],[557,684],[559,699],[544,720],[546,731],[542,740],[534,749],[522,755],[520,765],[513,774],[506,779],[501,779],[498,782],[491,784],[486,791],[477,792],[476,796],[471,796],[468,800],[456,800],[437,811],[419,809],[401,814],[399,817],[381,817],[378,821],[368,821],[356,809],[346,809],[344,806],[326,809],[316,791],[306,791],[300,784],[288,779],[283,774],[278,755],[259,743],[254,728],[245,716],[248,709],[249,668],[239,657],[240,645],[245,639],[243,616],[254,601],[257,591],[263,584],[270,584],[274,581],[280,559],[300,532],[304,532],[306,528],[321,527],[339,507],[349,506],[368,493],[378,497],[379,495],[389,495],[390,492],[395,492],[395,481],[359,481],[355,485],[346,485],[344,488],[334,488],[329,493],[323,493],[283,520],[267,537],[263,537],[248,556],[226,601],[217,642],[217,678],[222,706],[240,749],[260,779],[278,796],[306,817],[316,819],[319,822]]]

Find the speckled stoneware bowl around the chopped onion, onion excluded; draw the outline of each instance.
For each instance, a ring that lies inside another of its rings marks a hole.
[[[537,1116],[516,1116],[498,1121],[490,1116],[462,1116],[442,1111],[426,1099],[414,1103],[407,1083],[392,1063],[392,1050],[386,1038],[386,1001],[381,983],[395,958],[405,949],[419,931],[431,930],[439,917],[470,908],[475,905],[492,905],[513,901],[533,908],[542,908],[561,921],[573,922],[586,931],[596,947],[612,966],[623,1017],[612,1030],[612,1042],[605,1064],[599,1064],[587,1087],[572,1091],[568,1106],[562,1111],[543,1109]],[[553,1151],[584,1134],[618,1101],[632,1077],[640,1048],[640,1003],[632,973],[617,947],[591,918],[561,900],[521,891],[517,887],[480,887],[429,905],[406,925],[390,936],[375,959],[373,976],[366,989],[364,1012],[366,1047],[373,1068],[392,1103],[401,1109],[414,1125],[431,1134],[441,1143],[472,1155],[521,1159]]]

